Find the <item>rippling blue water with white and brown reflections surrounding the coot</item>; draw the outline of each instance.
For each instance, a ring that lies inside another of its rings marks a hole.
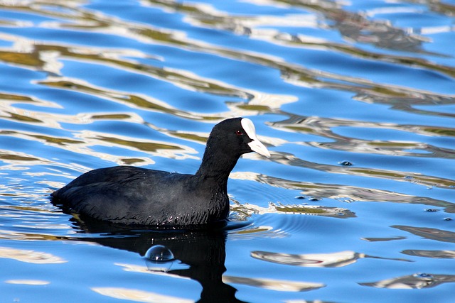
[[[0,302],[453,301],[454,14],[0,2]],[[230,116],[272,157],[238,162],[227,230],[113,230],[50,204],[97,167],[193,173]],[[145,258],[157,245],[175,259]]]

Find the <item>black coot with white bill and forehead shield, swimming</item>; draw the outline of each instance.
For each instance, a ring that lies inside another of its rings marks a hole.
[[[91,170],[53,192],[53,203],[114,224],[188,228],[223,223],[229,214],[228,177],[240,155],[269,157],[250,119],[213,127],[195,175],[116,166]]]

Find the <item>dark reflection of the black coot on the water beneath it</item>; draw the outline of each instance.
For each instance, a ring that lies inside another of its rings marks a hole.
[[[141,256],[151,246],[165,246],[171,250],[176,260],[186,266],[167,265],[168,268],[164,271],[199,282],[202,292],[197,302],[243,302],[235,297],[237,290],[222,280],[226,270],[227,227],[200,231],[154,231],[132,230],[87,218],[73,218],[72,221],[84,233],[89,234],[89,237],[83,236],[77,238],[77,241],[100,243],[102,246],[132,251]],[[150,260],[144,258],[144,263],[149,266]]]

